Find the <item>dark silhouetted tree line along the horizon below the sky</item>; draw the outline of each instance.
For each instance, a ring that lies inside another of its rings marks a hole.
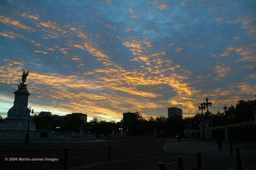
[[[256,100],[240,100],[237,105],[231,105],[224,112],[218,111],[210,114],[212,126],[223,126],[224,123],[236,124],[254,120],[256,111]],[[193,130],[199,130],[202,115],[197,113],[194,116],[182,118],[181,116],[164,116],[144,118],[139,112],[128,112],[128,119],[123,122],[114,120],[102,120],[94,117],[89,123],[83,122],[77,115],[68,114],[65,118],[54,118],[52,115],[32,115],[31,118],[37,130],[46,129],[53,131],[96,133],[100,136],[118,136],[121,132],[124,136],[153,136],[172,137],[182,135],[187,125]],[[0,116],[0,123],[3,118]]]

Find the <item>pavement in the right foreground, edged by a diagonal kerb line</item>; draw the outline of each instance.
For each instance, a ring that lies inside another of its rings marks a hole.
[[[256,169],[256,144],[255,143],[232,143],[233,154],[230,154],[230,144],[223,143],[222,152],[218,149],[218,144],[215,141],[181,141],[175,139],[166,139],[163,144],[162,151],[169,153],[162,157],[147,157],[141,159],[118,159],[111,163],[99,162],[80,167],[73,167],[71,170],[96,170],[96,169],[122,169],[122,170],[143,170],[143,169],[159,169],[158,163],[165,162],[166,164],[177,161],[178,156],[184,158],[195,155],[201,152],[202,169],[207,170],[236,170],[237,156],[234,148],[240,149],[241,162],[244,170]],[[246,148],[246,149],[245,149]],[[247,149],[254,148],[254,149]],[[194,160],[193,160],[194,159]],[[183,163],[184,169],[193,169],[196,165],[196,158],[185,160]],[[166,169],[178,169],[178,165],[166,167]]]

